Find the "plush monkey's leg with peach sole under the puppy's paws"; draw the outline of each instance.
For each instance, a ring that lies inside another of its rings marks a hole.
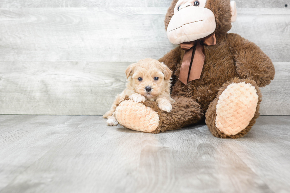
[[[160,110],[156,102],[146,100],[136,103],[127,98],[116,108],[117,121],[129,129],[159,133],[196,124],[204,117],[194,100],[181,96],[173,99],[176,102],[172,104],[172,111],[167,113]]]

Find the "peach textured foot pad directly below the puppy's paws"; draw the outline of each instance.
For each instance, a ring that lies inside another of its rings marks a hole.
[[[120,103],[115,112],[117,121],[129,129],[151,133],[159,125],[157,112],[132,100]]]

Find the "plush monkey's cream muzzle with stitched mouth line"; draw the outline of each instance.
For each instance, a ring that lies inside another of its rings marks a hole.
[[[215,28],[215,15],[210,9],[190,6],[173,15],[166,34],[171,43],[178,45],[207,37]]]

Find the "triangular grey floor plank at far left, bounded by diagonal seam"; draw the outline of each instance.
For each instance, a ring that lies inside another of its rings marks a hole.
[[[0,192],[88,117],[1,116],[1,119]]]

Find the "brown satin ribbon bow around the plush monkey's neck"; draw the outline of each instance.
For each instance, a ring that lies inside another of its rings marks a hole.
[[[183,84],[187,85],[187,82],[200,78],[205,59],[204,45],[212,46],[215,44],[216,44],[215,34],[209,35],[200,40],[195,40],[192,42],[184,42],[180,44],[181,49],[185,50],[185,54],[183,56],[183,61],[179,73],[179,80],[183,82]],[[194,46],[196,46],[196,49],[188,77]]]

